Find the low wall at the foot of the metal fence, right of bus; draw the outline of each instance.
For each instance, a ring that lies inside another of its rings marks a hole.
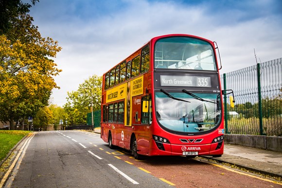
[[[282,137],[225,134],[225,143],[282,152]]]

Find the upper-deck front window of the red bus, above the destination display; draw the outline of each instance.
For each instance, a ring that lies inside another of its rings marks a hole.
[[[212,45],[190,37],[158,40],[154,60],[155,68],[216,70]]]

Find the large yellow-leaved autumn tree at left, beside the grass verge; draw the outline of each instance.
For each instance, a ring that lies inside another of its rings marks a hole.
[[[21,15],[13,27],[0,35],[0,121],[35,116],[48,105],[53,88],[59,88],[53,76],[61,71],[51,57],[61,50],[57,41],[42,38],[32,24],[33,18]]]

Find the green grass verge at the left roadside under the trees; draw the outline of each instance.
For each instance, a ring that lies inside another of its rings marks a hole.
[[[0,161],[2,161],[9,151],[18,143],[21,138],[31,131],[0,130]]]

